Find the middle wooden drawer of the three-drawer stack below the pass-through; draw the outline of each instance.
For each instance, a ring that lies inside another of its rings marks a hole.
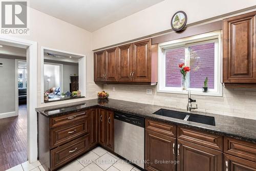
[[[88,119],[72,126],[59,126],[51,130],[51,148],[57,147],[89,133]]]

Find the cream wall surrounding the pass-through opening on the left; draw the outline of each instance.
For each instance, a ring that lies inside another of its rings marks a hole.
[[[93,82],[93,52],[92,33],[63,22],[60,19],[30,10],[30,35],[18,36],[19,38],[37,41],[37,106],[55,105],[62,102],[41,104],[41,46],[87,56],[87,98],[96,98],[96,92],[102,89]],[[73,102],[78,100],[68,100]]]

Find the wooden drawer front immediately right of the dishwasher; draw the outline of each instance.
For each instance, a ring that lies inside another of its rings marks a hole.
[[[146,129],[176,138],[176,125],[146,119]]]

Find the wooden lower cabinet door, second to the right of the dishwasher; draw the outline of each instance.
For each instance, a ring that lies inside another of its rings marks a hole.
[[[180,139],[177,142],[178,171],[222,170],[222,152]]]

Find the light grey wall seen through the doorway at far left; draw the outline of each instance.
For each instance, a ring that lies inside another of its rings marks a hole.
[[[0,115],[15,112],[15,60],[0,56]],[[1,118],[1,116],[0,116]]]

